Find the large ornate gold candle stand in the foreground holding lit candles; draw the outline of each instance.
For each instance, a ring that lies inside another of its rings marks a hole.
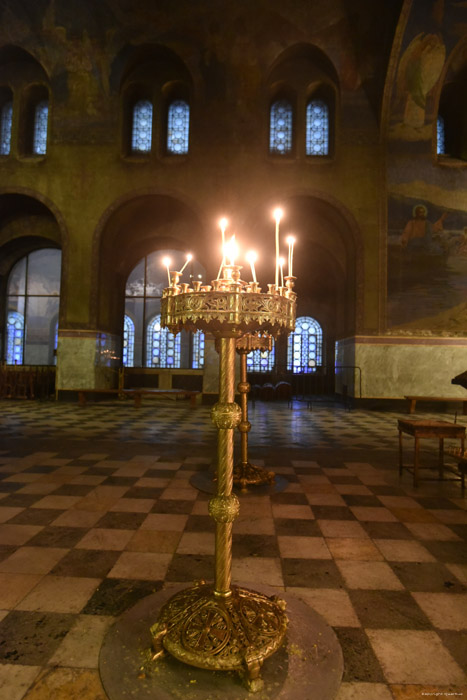
[[[238,671],[250,691],[263,687],[261,666],[281,646],[285,603],[277,596],[231,585],[232,526],[239,501],[232,493],[234,430],[242,420],[235,403],[236,340],[263,330],[273,336],[295,326],[293,278],[287,287],[261,294],[240,280],[240,267],[225,265],[223,277],[200,291],[182,291],[175,275],[164,290],[161,322],[172,333],[211,332],[219,346],[219,401],[211,417],[218,431],[217,493],[209,502],[216,523],[215,582],[176,593],[151,627],[153,659],[169,652],[191,666]]]

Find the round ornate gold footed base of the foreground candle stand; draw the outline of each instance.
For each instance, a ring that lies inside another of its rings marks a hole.
[[[204,581],[175,594],[151,627],[154,659],[168,651],[184,663],[213,671],[238,671],[250,692],[263,687],[265,659],[287,631],[285,601],[231,586],[219,595]]]

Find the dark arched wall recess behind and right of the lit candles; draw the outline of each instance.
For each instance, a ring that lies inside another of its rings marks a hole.
[[[286,236],[296,238],[293,275],[297,277],[297,314],[319,321],[325,334],[328,363],[334,341],[355,334],[362,312],[362,246],[353,217],[337,202],[319,196],[290,195],[262,205],[245,223],[239,241],[255,241],[257,276],[263,289],[274,281],[274,206],[284,211],[280,223],[281,255],[286,260]],[[264,212],[269,211],[270,219]],[[244,243],[245,242],[245,243]],[[284,270],[285,274],[285,270]],[[249,278],[248,278],[249,279]]]

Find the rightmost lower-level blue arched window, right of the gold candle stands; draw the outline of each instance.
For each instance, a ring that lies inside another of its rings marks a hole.
[[[323,334],[318,321],[300,316],[287,340],[287,369],[294,374],[315,372],[322,364]]]

